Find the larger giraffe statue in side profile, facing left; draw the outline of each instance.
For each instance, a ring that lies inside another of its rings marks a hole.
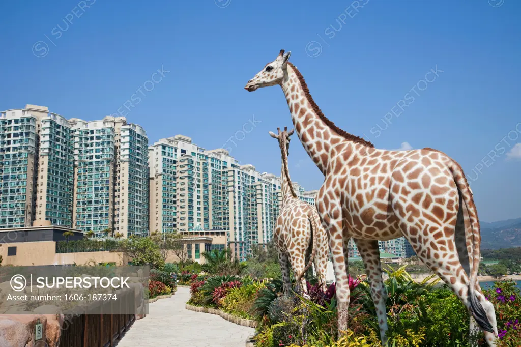
[[[290,52],[268,63],[244,89],[280,85],[302,145],[325,176],[316,205],[329,237],[337,279],[338,326],[346,327],[349,286],[345,251],[353,238],[365,264],[382,343],[387,340],[386,297],[378,240],[405,236],[418,257],[449,285],[495,345],[493,305],[477,279],[479,220],[463,170],[432,148],[378,150],[339,129],[315,104]]]

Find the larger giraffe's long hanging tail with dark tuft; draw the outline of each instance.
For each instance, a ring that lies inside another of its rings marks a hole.
[[[476,319],[476,322],[479,326],[488,332],[494,333],[494,328],[490,323],[490,320],[487,317],[487,312],[479,302],[476,296],[476,286],[478,280],[478,268],[480,262],[480,244],[481,244],[481,236],[479,230],[479,219],[478,213],[476,210],[476,205],[474,204],[473,194],[468,185],[467,179],[465,178],[465,174],[463,173],[463,169],[461,166],[456,163],[454,160],[451,160],[449,163],[449,169],[452,172],[452,176],[454,177],[454,182],[456,183],[458,194],[460,195],[460,199],[463,199],[463,203],[465,204],[468,212],[468,217],[470,219],[470,226],[465,228],[465,233],[472,233],[472,266],[470,267],[469,274],[469,285],[468,285],[468,301],[470,303],[470,312]],[[461,211],[463,213],[463,211]]]

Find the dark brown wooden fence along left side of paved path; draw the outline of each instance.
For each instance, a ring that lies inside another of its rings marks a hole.
[[[135,320],[135,312],[131,308],[134,305],[134,292],[127,291],[117,301],[96,302],[92,309],[97,309],[102,314],[82,314],[66,316],[61,331],[59,347],[108,347],[114,346],[123,332],[127,331]],[[119,311],[118,311],[119,309]],[[123,312],[126,314],[111,314],[111,312]]]

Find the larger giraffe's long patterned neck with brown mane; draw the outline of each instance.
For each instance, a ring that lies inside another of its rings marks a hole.
[[[322,114],[309,94],[299,70],[291,63],[288,63],[287,73],[288,76],[284,77],[281,86],[286,95],[293,125],[307,154],[324,175],[329,159],[338,153],[338,146],[349,156],[355,145],[373,147],[370,142],[339,129]]]

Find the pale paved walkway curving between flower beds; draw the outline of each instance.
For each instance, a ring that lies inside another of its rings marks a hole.
[[[134,322],[117,347],[244,347],[255,329],[217,315],[184,308],[190,289],[178,288],[169,299],[151,303],[150,314]]]

